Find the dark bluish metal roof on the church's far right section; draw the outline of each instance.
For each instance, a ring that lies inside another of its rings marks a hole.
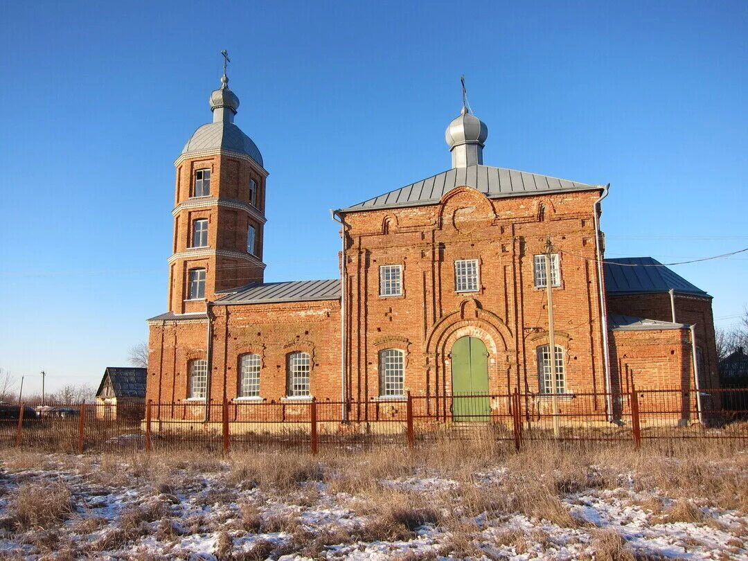
[[[605,290],[608,294],[667,292],[709,296],[698,286],[668,269],[652,257],[616,257],[605,260]]]

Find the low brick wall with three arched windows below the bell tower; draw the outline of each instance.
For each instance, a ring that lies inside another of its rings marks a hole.
[[[310,393],[319,400],[340,399],[340,303],[292,302],[214,306],[210,399],[238,393],[239,356],[260,355],[260,396],[279,401],[287,395],[286,357],[311,357]],[[206,358],[207,321],[150,322],[147,399],[183,402],[188,362]]]

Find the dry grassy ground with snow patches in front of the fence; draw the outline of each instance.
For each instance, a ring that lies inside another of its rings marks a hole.
[[[0,558],[744,559],[748,451],[0,450]]]

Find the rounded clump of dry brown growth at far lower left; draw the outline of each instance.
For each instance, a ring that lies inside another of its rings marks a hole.
[[[62,482],[26,483],[10,499],[8,512],[16,530],[49,530],[73,513],[73,497]]]

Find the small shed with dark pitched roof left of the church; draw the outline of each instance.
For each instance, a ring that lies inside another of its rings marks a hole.
[[[96,417],[143,418],[146,379],[146,368],[106,367],[96,390]]]

